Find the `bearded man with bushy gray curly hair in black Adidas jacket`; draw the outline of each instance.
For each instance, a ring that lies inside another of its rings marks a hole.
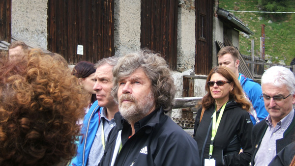
[[[164,114],[175,97],[165,59],[143,50],[119,58],[112,72],[117,127],[99,166],[199,166],[196,141]]]

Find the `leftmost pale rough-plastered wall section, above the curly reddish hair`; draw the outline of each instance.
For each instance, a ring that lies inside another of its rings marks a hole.
[[[11,34],[47,49],[47,0],[12,0]]]

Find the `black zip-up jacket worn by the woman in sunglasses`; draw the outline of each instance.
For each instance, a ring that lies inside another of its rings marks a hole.
[[[219,109],[216,113],[218,118]],[[202,166],[209,158],[209,146],[212,135],[212,115],[215,104],[204,112],[200,123],[202,109],[198,110],[194,138],[198,143]],[[216,166],[249,166],[251,160],[251,130],[253,124],[249,113],[242,110],[235,101],[229,101],[224,109],[214,142],[212,157]],[[243,153],[239,154],[240,149]]]

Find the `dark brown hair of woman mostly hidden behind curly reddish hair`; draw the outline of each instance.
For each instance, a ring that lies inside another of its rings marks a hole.
[[[72,72],[77,78],[86,78],[92,73],[95,73],[94,64],[88,61],[80,61],[77,63]]]

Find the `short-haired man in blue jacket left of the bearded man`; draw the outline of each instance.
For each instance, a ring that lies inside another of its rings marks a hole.
[[[116,126],[114,115],[118,112],[118,104],[114,101],[111,91],[112,69],[117,61],[118,57],[112,56],[94,65],[96,71],[93,90],[96,92],[97,101],[84,117],[82,136],[79,139],[77,156],[73,159],[72,166],[97,166],[103,156],[108,135]]]

